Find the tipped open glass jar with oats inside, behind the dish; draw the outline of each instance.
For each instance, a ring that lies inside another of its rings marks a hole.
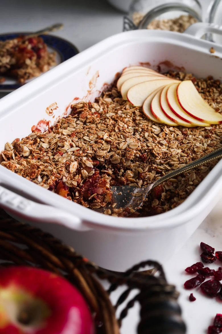
[[[124,23],[126,23],[126,18]],[[199,0],[134,0],[130,6],[130,24],[124,30],[160,29],[183,32],[191,24],[202,22]]]

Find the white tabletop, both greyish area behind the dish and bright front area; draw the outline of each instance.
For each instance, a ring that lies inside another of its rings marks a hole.
[[[202,0],[204,8],[209,0]],[[70,40],[80,51],[98,41],[122,31],[123,14],[112,8],[105,0],[7,0],[0,2],[0,32],[35,31],[55,22],[63,22],[65,28],[56,35]],[[0,98],[3,96],[0,95]],[[187,334],[207,333],[216,313],[222,313],[221,303],[215,299],[203,297],[199,290],[194,291],[197,300],[188,301],[189,291],[183,289],[187,279],[184,269],[199,261],[198,245],[201,241],[211,244],[222,251],[222,199],[204,220],[168,264],[165,265],[168,281],[175,284],[180,291],[180,305],[187,323]],[[65,241],[65,240],[64,240]],[[217,263],[217,266],[219,263]],[[216,265],[210,265],[210,268]],[[113,300],[117,293],[113,294]],[[129,311],[123,320],[121,333],[136,333],[138,322],[138,305]],[[158,333],[161,334],[161,333]]]

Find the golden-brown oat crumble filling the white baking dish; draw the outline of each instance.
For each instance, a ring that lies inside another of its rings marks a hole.
[[[192,79],[208,104],[222,112],[219,80],[173,71],[166,75]],[[71,115],[46,132],[36,130],[6,143],[1,164],[92,209],[111,201],[112,185],[144,187],[222,147],[221,124],[184,128],[153,123],[143,115],[142,108],[122,100],[115,85],[95,102],[79,102],[71,108]],[[149,216],[176,207],[215,164],[208,163],[154,188],[140,212],[131,216]]]

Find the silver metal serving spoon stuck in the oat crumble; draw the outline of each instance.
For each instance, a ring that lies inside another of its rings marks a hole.
[[[112,212],[113,206],[115,209],[119,209],[119,208],[126,209],[127,207],[130,207],[133,210],[136,210],[138,207],[141,207],[148,193],[156,186],[171,179],[174,176],[188,172],[189,170],[195,167],[201,166],[204,163],[213,161],[221,157],[222,157],[222,148],[196,161],[193,161],[182,168],[176,169],[173,172],[170,172],[164,175],[157,181],[151,183],[150,185],[144,188],[138,188],[138,187],[133,187],[133,186],[113,186],[111,187],[112,204],[104,208],[96,209],[96,211],[104,212],[105,210],[110,209]]]

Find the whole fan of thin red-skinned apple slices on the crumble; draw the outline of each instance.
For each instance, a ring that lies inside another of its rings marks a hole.
[[[122,71],[117,89],[124,100],[142,107],[144,115],[170,126],[209,126],[222,123],[222,115],[200,96],[191,80],[179,81],[143,66]]]

